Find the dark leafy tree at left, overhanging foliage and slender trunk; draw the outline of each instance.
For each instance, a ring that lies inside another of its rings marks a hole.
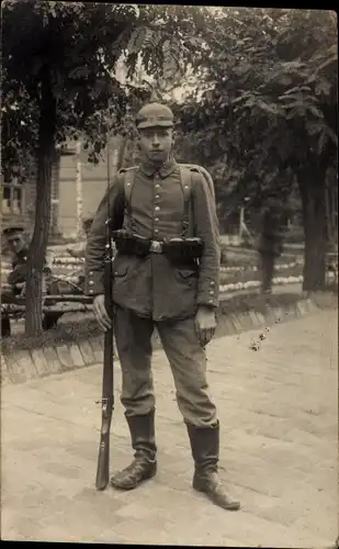
[[[36,208],[29,253],[26,334],[42,329],[42,271],[50,223],[50,179],[56,145],[81,138],[98,161],[128,105],[147,90],[123,86],[116,75],[124,56],[127,76],[139,61],[168,80],[196,46],[206,10],[7,0],[2,4],[2,169],[7,175],[36,164]],[[191,38],[191,36],[194,36]]]

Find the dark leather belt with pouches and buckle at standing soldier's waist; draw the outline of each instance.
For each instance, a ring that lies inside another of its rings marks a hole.
[[[163,242],[151,240],[124,229],[112,233],[116,249],[126,256],[147,257],[149,254],[163,254],[173,262],[190,262],[203,253],[201,238],[169,238]]]

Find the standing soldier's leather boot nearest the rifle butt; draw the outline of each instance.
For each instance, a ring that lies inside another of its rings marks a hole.
[[[111,485],[120,490],[133,490],[157,472],[155,442],[155,411],[146,415],[125,416],[135,450],[132,463],[111,478]]]

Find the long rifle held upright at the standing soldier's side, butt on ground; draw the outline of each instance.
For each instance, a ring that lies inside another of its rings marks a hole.
[[[108,184],[110,183],[110,144],[108,143]],[[110,203],[109,203],[110,210]],[[101,433],[97,464],[97,490],[104,490],[110,480],[110,432],[114,410],[114,357],[113,357],[113,301],[112,301],[112,260],[113,248],[111,238],[110,212],[106,221],[106,254],[104,261],[104,301],[105,310],[111,318],[111,327],[104,333],[103,374],[101,397]]]

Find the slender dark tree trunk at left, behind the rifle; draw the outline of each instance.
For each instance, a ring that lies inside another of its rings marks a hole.
[[[25,333],[42,333],[43,269],[50,225],[52,166],[56,125],[56,102],[48,66],[42,69],[38,125],[36,205],[34,233],[27,258]]]

